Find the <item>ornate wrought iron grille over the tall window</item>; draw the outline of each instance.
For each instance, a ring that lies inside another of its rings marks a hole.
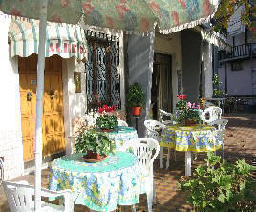
[[[119,39],[101,32],[86,32],[88,61],[86,64],[87,110],[104,104],[121,107]]]

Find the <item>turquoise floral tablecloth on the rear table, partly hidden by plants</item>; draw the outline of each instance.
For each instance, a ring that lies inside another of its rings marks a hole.
[[[122,151],[122,146],[125,141],[133,138],[138,138],[136,129],[133,127],[118,126],[118,130],[108,133],[110,138],[115,140],[116,151]]]

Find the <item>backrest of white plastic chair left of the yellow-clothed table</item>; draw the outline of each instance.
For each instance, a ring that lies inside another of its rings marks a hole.
[[[159,133],[157,131],[166,128],[166,125],[164,125],[158,120],[145,120],[144,125],[146,127],[146,137],[153,138],[156,140],[159,139]]]

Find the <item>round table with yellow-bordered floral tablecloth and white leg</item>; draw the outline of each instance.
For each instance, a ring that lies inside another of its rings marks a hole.
[[[168,126],[162,132],[160,146],[185,152],[185,175],[191,176],[191,151],[216,151],[222,143],[215,136],[216,129],[208,125]]]

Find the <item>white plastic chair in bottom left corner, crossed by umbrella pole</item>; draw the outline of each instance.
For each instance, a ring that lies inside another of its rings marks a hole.
[[[3,181],[4,189],[7,195],[8,203],[11,208],[11,212],[32,212],[34,211],[34,201],[32,196],[34,195],[34,187],[28,185],[26,181],[9,182]],[[63,191],[51,191],[48,189],[42,189],[42,197],[57,198],[64,196],[64,204],[56,205],[41,201],[41,212],[73,212],[74,202],[72,201],[71,190]]]

